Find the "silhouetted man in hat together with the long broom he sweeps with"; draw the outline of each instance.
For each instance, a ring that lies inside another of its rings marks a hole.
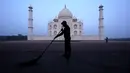
[[[41,53],[41,55],[39,55],[38,57],[34,58],[33,60],[30,60],[28,62],[24,62],[21,63],[21,65],[33,65],[35,63],[37,63],[37,61],[42,57],[42,55],[45,53],[45,51],[48,49],[48,47],[52,44],[52,42],[59,36],[64,34],[64,38],[65,38],[65,53],[63,54],[63,56],[68,60],[70,58],[71,55],[71,45],[70,45],[70,41],[71,41],[71,37],[70,37],[70,27],[67,25],[66,21],[63,21],[61,23],[64,27],[64,29],[62,28],[61,31],[59,32],[59,34],[51,41],[51,43],[46,47],[46,49]]]

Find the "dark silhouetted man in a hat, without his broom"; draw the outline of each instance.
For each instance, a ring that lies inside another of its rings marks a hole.
[[[65,38],[65,53],[63,54],[64,57],[68,57],[71,55],[71,37],[70,37],[70,27],[67,25],[66,21],[63,21],[61,23],[64,27],[64,29],[61,29],[61,33],[59,33],[55,38],[61,36],[64,34],[64,38]],[[55,39],[54,38],[54,39]]]

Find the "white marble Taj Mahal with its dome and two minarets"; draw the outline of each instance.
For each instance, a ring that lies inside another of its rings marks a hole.
[[[61,30],[61,22],[67,21],[70,27],[71,40],[104,40],[104,26],[103,26],[103,6],[99,6],[99,30],[98,35],[84,35],[83,22],[76,18],[71,11],[64,6],[64,8],[59,12],[52,21],[48,23],[48,34],[39,36],[33,34],[33,7],[29,6],[29,19],[28,19],[28,40],[53,40],[53,38]],[[64,40],[63,36],[58,37],[56,40]]]

